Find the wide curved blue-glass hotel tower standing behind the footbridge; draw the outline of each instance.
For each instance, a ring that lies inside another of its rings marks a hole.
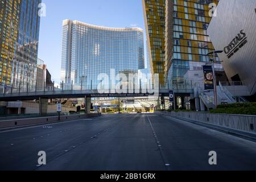
[[[96,88],[98,75],[110,69],[137,73],[144,68],[143,30],[109,28],[76,20],[63,21],[61,80],[65,85]]]

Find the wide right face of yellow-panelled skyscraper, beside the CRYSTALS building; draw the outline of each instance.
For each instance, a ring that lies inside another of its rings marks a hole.
[[[166,0],[166,81],[183,82],[188,70],[201,69],[214,51],[207,34],[218,1]],[[216,55],[215,60],[218,60]]]

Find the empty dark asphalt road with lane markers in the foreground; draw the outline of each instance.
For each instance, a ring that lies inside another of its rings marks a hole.
[[[256,143],[166,115],[102,115],[0,132],[0,170],[256,170]]]

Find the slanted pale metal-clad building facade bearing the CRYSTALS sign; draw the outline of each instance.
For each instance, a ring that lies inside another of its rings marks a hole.
[[[208,34],[230,83],[241,82],[244,94],[256,94],[256,0],[221,0]],[[232,85],[232,84],[231,84]],[[243,94],[241,92],[241,94]]]

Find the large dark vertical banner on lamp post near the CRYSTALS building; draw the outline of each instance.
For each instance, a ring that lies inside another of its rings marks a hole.
[[[212,71],[212,65],[204,65],[204,89],[214,90],[214,76]]]

